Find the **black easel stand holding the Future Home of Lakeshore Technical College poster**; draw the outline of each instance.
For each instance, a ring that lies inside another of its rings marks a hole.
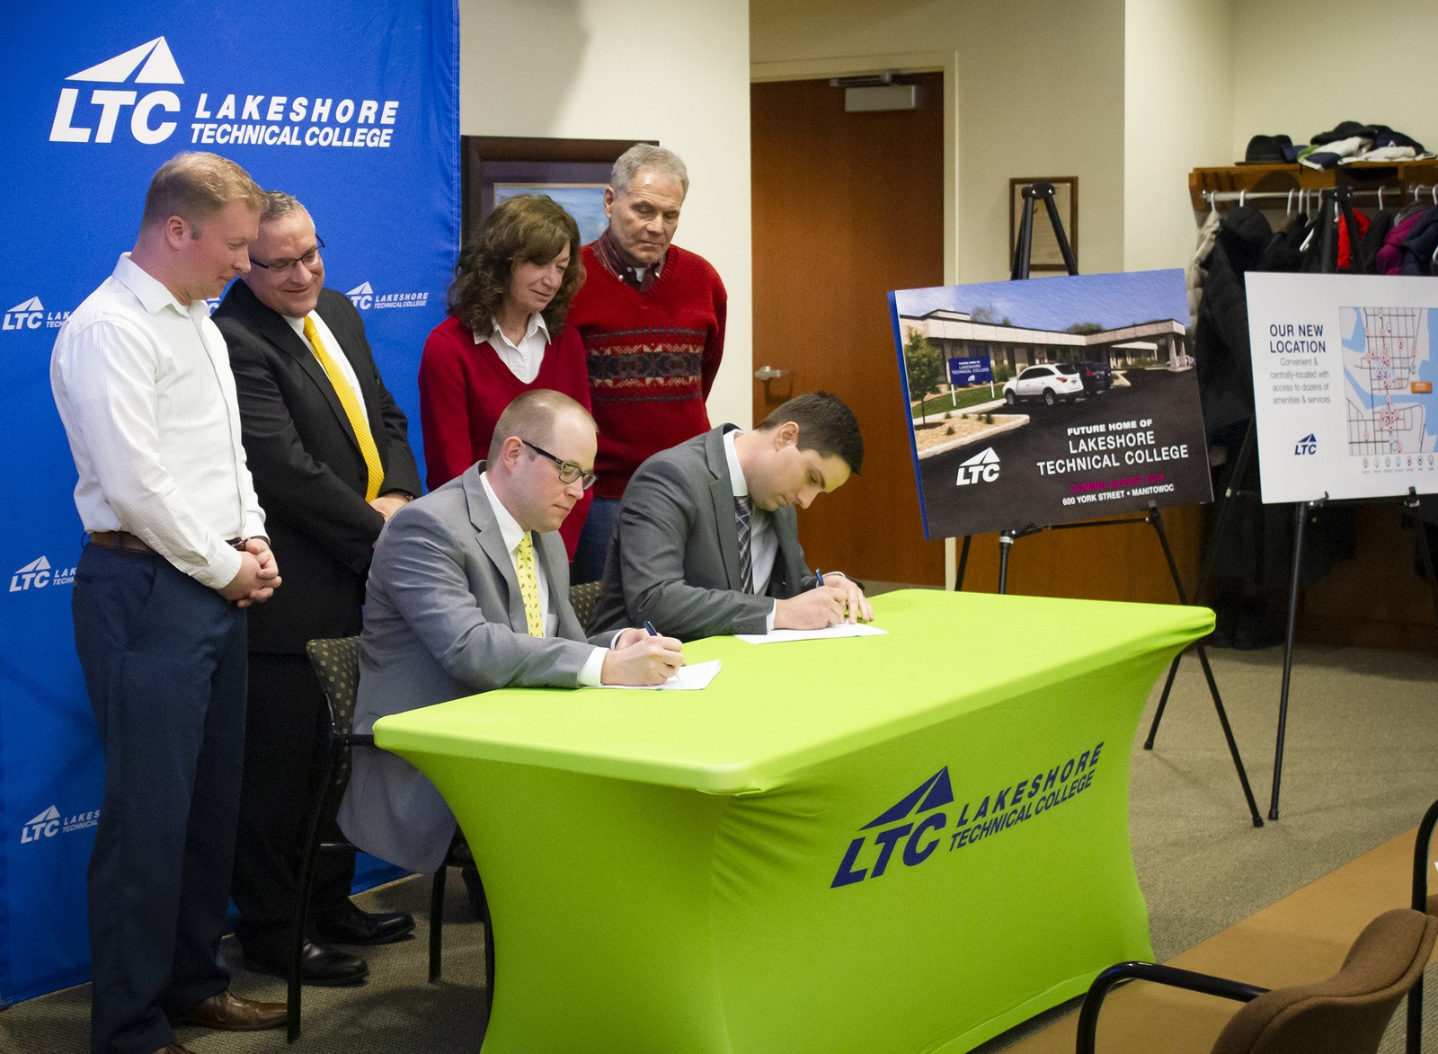
[[[1078,273],[1078,265],[1074,260],[1073,250],[1068,247],[1068,239],[1064,234],[1063,221],[1058,219],[1058,208],[1054,206],[1054,185],[1051,183],[1032,183],[1024,187],[1024,214],[1020,220],[1018,227],[1018,242],[1014,246],[1014,267],[1009,275],[1011,280],[1021,280],[1028,278],[1030,256],[1032,255],[1034,244],[1034,201],[1043,198],[1048,210],[1048,221],[1054,227],[1054,237],[1058,240],[1058,250],[1063,253],[1064,265],[1068,267],[1070,275]],[[1356,242],[1355,242],[1356,244]],[[1173,559],[1173,551],[1169,548],[1168,535],[1163,531],[1163,516],[1159,512],[1156,502],[1149,502],[1149,512],[1146,516],[1123,516],[1117,519],[1099,519],[1089,521],[1086,523],[1054,523],[1050,526],[1034,526],[1001,531],[998,536],[998,591],[1008,591],[1008,558],[1009,551],[1014,548],[1014,542],[1020,538],[1027,538],[1028,535],[1037,535],[1043,531],[1078,531],[1083,528],[1096,526],[1116,526],[1120,523],[1148,523],[1153,528],[1153,532],[1159,538],[1159,545],[1163,546],[1163,559],[1168,561],[1169,575],[1173,578],[1173,590],[1178,594],[1179,604],[1188,604],[1188,594],[1183,590],[1183,579],[1178,574],[1178,564]],[[969,562],[969,545],[974,536],[963,536],[963,546],[959,552],[959,568],[953,579],[955,591],[963,588],[963,572]],[[1248,802],[1248,814],[1252,818],[1254,827],[1263,827],[1263,817],[1258,814],[1258,802],[1254,801],[1252,788],[1248,785],[1248,774],[1244,771],[1244,761],[1238,753],[1238,743],[1234,739],[1234,730],[1228,723],[1228,713],[1224,710],[1224,700],[1218,695],[1218,683],[1214,680],[1214,672],[1208,664],[1208,654],[1204,650],[1202,641],[1196,643],[1194,649],[1198,651],[1198,661],[1204,667],[1204,679],[1208,682],[1208,693],[1214,699],[1214,709],[1218,712],[1218,723],[1224,729],[1224,739],[1228,742],[1228,753],[1234,759],[1234,771],[1238,774],[1238,782],[1244,789],[1244,799]],[[1162,713],[1162,706],[1168,700],[1169,689],[1173,684],[1173,676],[1178,673],[1178,659],[1169,666],[1168,683],[1163,686],[1163,700],[1159,703],[1159,712]],[[1155,723],[1156,728],[1156,723]],[[1153,736],[1149,735],[1146,749],[1152,749]]]

